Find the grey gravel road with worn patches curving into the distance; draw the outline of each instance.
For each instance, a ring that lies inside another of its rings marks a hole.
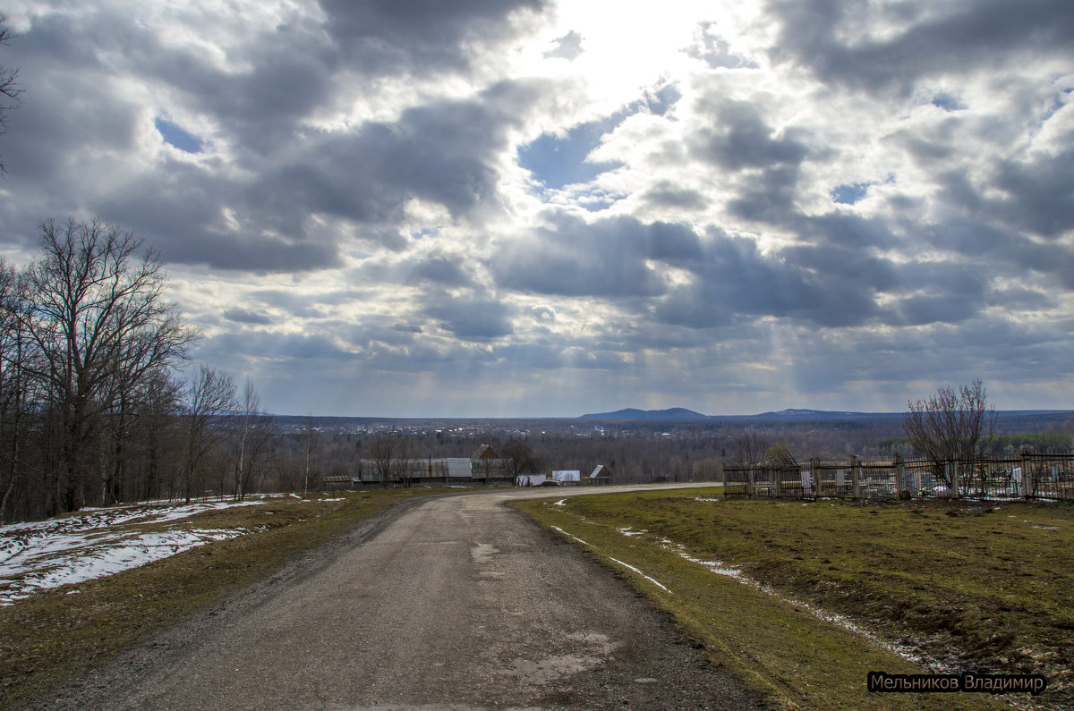
[[[526,493],[400,504],[40,708],[764,708]]]

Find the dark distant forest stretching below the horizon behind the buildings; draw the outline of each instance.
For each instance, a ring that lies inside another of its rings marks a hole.
[[[354,476],[358,462],[375,459],[377,441],[384,437],[405,441],[403,449],[415,460],[470,456],[480,445],[509,450],[512,440],[522,440],[534,454],[531,462],[536,462],[534,466],[541,470],[587,473],[604,464],[620,482],[715,480],[721,465],[736,461],[746,440],[754,448],[763,448],[761,451],[782,444],[799,461],[915,454],[903,436],[899,416],[860,420],[600,422],[262,415],[251,430],[242,426],[243,412],[231,412],[214,418],[211,427],[219,436],[213,439],[197,468],[185,473],[188,469],[185,416],[182,410],[161,415],[160,436],[153,447],[146,438],[131,437],[120,452],[107,446],[97,450],[98,466],[118,470],[121,476],[83,479],[83,500],[101,505],[146,498],[179,499],[187,491],[198,497],[316,491],[324,487],[325,477]],[[1042,452],[1070,452],[1074,448],[1074,412],[1013,417],[1001,413],[997,429],[1004,434],[992,437],[989,449],[998,454],[1013,454],[1027,447]],[[245,455],[240,446],[244,430]],[[12,430],[5,429],[5,436],[0,438],[6,439],[11,434]],[[35,448],[27,447],[27,453],[32,449]],[[39,450],[39,453],[44,452]],[[115,460],[117,456],[121,462]],[[118,468],[117,463],[121,463]],[[37,465],[27,467],[27,478],[32,479],[33,473],[43,476],[45,471],[40,467],[56,464],[46,454]],[[236,476],[240,469],[242,477]],[[189,480],[186,474],[190,475]],[[47,510],[47,488],[39,487],[30,480],[13,487],[6,497],[4,520],[56,513]]]

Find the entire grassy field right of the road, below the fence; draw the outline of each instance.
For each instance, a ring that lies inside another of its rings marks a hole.
[[[712,492],[514,505],[585,541],[672,612],[717,663],[778,702],[824,709],[1030,703],[1025,694],[867,691],[869,671],[928,671],[902,656],[916,654],[943,673],[1042,673],[1048,690],[1032,703],[1070,708],[1071,507],[715,500]],[[824,613],[841,624],[823,620]]]

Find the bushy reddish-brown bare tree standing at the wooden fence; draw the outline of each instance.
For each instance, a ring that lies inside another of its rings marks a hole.
[[[983,454],[996,424],[985,386],[974,380],[958,390],[943,387],[928,400],[908,402],[902,430],[913,446],[933,464],[933,473],[954,491],[946,464],[969,470]]]

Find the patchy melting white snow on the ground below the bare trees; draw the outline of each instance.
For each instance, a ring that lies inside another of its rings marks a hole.
[[[121,506],[75,516],[0,527],[0,605],[34,592],[103,578],[175,555],[245,529],[194,528],[141,533],[133,527],[195,513],[252,506],[260,500],[202,502],[187,506]],[[127,525],[125,525],[127,524]],[[120,531],[102,531],[125,526]],[[72,591],[74,592],[74,591]]]

